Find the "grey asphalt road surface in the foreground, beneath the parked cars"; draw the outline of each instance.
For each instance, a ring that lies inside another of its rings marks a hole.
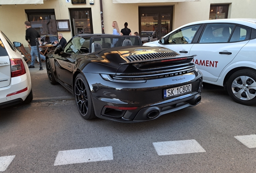
[[[16,105],[0,110],[0,165],[1,157],[12,156],[4,173],[254,173],[256,148],[235,137],[255,134],[255,110],[209,84],[196,107],[143,123],[86,121],[74,100]],[[187,140],[204,151],[158,155],[155,147]],[[94,148],[110,151],[108,159],[57,163],[69,159],[62,151]]]

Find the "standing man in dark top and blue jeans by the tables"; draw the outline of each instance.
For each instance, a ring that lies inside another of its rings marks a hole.
[[[35,66],[34,66],[35,65],[35,57],[38,56],[37,44],[35,43],[35,38],[40,40],[40,34],[34,28],[31,27],[31,23],[29,21],[25,22],[25,26],[27,28],[26,40],[31,46],[31,52],[30,52],[31,64],[30,64],[29,68],[35,68]],[[40,58],[45,60],[45,56],[43,56],[43,55],[41,55]]]

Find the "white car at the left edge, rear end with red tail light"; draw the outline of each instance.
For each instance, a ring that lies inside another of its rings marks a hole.
[[[16,49],[19,46],[0,30],[0,108],[33,99],[29,68]]]

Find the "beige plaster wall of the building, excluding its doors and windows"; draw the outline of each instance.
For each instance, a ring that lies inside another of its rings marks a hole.
[[[173,29],[183,24],[198,20],[208,20],[211,4],[229,3],[228,18],[256,18],[256,0],[201,0],[199,2],[170,2],[170,3],[138,3],[138,4],[113,4],[112,0],[103,1],[104,29],[106,34],[112,34],[112,22],[118,22],[120,30],[124,22],[128,22],[128,28],[132,33],[138,32],[138,7],[139,6],[173,6]],[[94,0],[94,5],[71,4],[66,0],[47,0],[44,4],[27,5],[2,5],[0,6],[0,30],[12,41],[19,41],[27,46],[25,40],[25,25],[27,14],[25,9],[53,9],[56,19],[70,19],[68,8],[91,8],[93,20],[93,32],[101,33],[101,16],[99,0]],[[70,20],[71,22],[71,20]],[[71,26],[71,25],[70,25]],[[72,28],[71,28],[72,29]],[[71,32],[61,32],[67,40],[72,37]]]

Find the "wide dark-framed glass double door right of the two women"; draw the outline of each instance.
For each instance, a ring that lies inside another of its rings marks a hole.
[[[155,41],[172,31],[173,6],[139,7],[142,42]]]

